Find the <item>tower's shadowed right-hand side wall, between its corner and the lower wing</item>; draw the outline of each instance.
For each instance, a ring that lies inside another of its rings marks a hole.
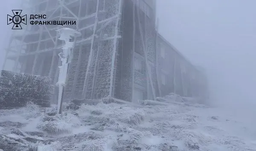
[[[147,99],[147,73],[143,51],[143,43],[148,50],[148,61],[151,62],[151,76],[154,85],[154,63],[155,63],[155,37],[154,37],[154,19],[146,17],[144,12],[139,8],[140,24],[142,28],[143,42],[139,29],[139,18],[137,6],[135,14],[133,14],[134,3],[132,0],[124,0],[122,9],[122,20],[120,31],[122,39],[119,43],[119,51],[117,56],[117,72],[115,82],[115,98],[125,101],[132,101],[132,78],[134,76],[134,84],[142,87],[144,98]],[[135,18],[134,18],[135,17]],[[135,20],[135,39],[133,38]],[[135,53],[133,53],[133,41],[135,42]],[[139,59],[142,62],[142,69],[135,70],[133,75],[133,61]],[[138,87],[135,86],[138,89]],[[151,90],[151,89],[150,89]]]

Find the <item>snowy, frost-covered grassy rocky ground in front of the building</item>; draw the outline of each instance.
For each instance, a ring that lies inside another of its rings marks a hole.
[[[0,149],[256,151],[255,118],[243,117],[193,103],[145,107],[100,103],[62,115],[29,104],[0,110]]]

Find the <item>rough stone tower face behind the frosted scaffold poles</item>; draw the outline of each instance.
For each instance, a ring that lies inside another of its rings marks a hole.
[[[111,18],[118,14],[119,0],[107,0],[105,2],[105,13],[98,16],[99,22],[104,19]],[[115,5],[113,5],[115,4]],[[100,0],[100,7],[102,7],[103,1]],[[91,3],[92,9],[96,12],[96,3]],[[95,18],[90,18],[87,23],[94,23]],[[83,25],[83,26],[85,26]],[[96,31],[102,26],[105,26],[105,22],[98,23]],[[90,44],[77,44],[73,50],[73,60],[70,64],[67,86],[65,87],[64,99],[82,99],[84,80],[86,86],[86,93],[84,99],[96,99],[103,98],[109,95],[111,85],[111,68],[112,68],[112,55],[113,49],[118,46],[118,42],[114,45],[116,20],[112,20],[105,28],[97,32],[97,37],[109,37],[108,40],[95,39],[92,51],[91,66],[87,71],[87,64],[90,55]],[[119,24],[117,25],[119,27]],[[81,32],[82,38],[89,38],[93,34],[92,29],[86,29]],[[82,46],[80,50],[80,46]],[[79,59],[80,56],[80,59]],[[115,75],[115,68],[113,75]],[[88,73],[85,79],[85,74]],[[113,82],[114,83],[114,82]]]

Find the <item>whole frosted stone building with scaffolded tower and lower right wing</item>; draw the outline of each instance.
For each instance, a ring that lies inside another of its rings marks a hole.
[[[47,20],[76,20],[76,25],[65,27],[82,34],[71,40],[75,47],[64,91],[66,100],[111,96],[136,101],[172,92],[199,95],[192,92],[198,80],[191,79],[200,72],[156,31],[155,0],[27,1],[23,6],[26,14],[45,14]],[[4,66],[13,64],[13,68],[5,69],[48,76],[56,83],[58,53],[64,44],[56,30],[62,27],[28,24],[26,29],[14,31]],[[159,59],[163,49],[165,58]]]

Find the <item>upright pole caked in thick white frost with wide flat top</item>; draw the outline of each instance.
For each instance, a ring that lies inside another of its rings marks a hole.
[[[65,44],[62,46],[63,52],[59,53],[58,56],[61,58],[61,66],[59,66],[60,72],[58,77],[58,82],[56,85],[59,87],[58,90],[58,113],[61,113],[61,106],[63,102],[63,93],[64,93],[64,86],[67,81],[67,73],[68,73],[68,66],[71,61],[71,50],[74,47],[74,42],[71,42],[72,37],[80,36],[81,33],[71,29],[71,28],[61,28],[56,30],[60,38],[58,38],[61,41],[65,41]],[[72,37],[71,37],[72,36]]]

